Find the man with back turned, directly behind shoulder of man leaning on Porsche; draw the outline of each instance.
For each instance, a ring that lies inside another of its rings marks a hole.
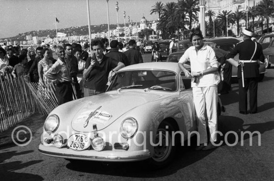
[[[106,54],[106,56],[110,57],[114,60],[120,61],[120,62],[124,63],[125,66],[128,66],[130,63],[129,63],[127,56],[124,53],[119,52],[119,48],[118,48],[119,42],[117,40],[113,40],[113,41],[111,41],[110,46],[111,46],[111,49]]]

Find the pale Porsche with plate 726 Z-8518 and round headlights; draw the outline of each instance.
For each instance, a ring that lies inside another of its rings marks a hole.
[[[126,66],[105,93],[54,109],[44,123],[39,152],[69,160],[147,160],[165,166],[174,157],[175,143],[197,130],[190,81],[177,63]],[[218,115],[222,108],[219,99]]]

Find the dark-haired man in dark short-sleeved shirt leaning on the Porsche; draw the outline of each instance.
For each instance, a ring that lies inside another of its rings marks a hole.
[[[86,61],[83,73],[83,77],[87,79],[84,84],[84,97],[105,92],[113,73],[125,66],[124,63],[103,55],[104,45],[100,40],[94,40],[91,46],[95,56]]]

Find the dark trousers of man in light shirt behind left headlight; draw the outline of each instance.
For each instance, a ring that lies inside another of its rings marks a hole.
[[[72,86],[70,82],[58,83],[55,87],[55,94],[58,105],[72,101]]]

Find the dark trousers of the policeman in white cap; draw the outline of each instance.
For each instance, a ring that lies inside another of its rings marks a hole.
[[[249,90],[249,106],[250,112],[257,112],[257,93],[258,78],[245,78],[245,87],[243,87],[242,78],[239,78],[239,111],[247,112],[248,90]]]

